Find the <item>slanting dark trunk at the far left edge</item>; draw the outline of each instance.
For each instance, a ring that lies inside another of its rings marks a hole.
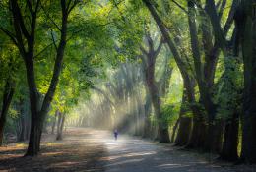
[[[10,104],[12,102],[13,95],[14,95],[14,86],[12,86],[12,84],[10,83],[9,80],[10,79],[8,79],[6,81],[6,85],[4,88],[2,110],[1,110],[1,114],[0,114],[1,115],[0,116],[0,146],[3,143],[4,126],[6,123],[6,117],[7,117],[8,109],[10,107]]]

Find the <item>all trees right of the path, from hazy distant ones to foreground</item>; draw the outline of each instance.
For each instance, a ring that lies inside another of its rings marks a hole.
[[[144,14],[140,17],[143,39],[132,62],[122,64],[110,75],[112,83],[107,82],[98,93],[107,97],[98,106],[107,103],[113,109],[107,113],[112,127],[132,126],[133,134],[144,136],[137,129],[151,131],[155,125],[151,137],[156,134],[153,138],[160,143],[175,139],[176,145],[217,152],[225,160],[255,163],[255,1],[142,0],[131,4]],[[120,9],[126,5],[118,3]],[[156,68],[162,70],[165,65],[156,62],[158,56],[166,56],[164,51],[171,53],[167,57],[175,64],[167,63],[160,77]],[[132,68],[123,67],[130,63]],[[169,86],[175,82],[170,80],[173,68],[183,80],[183,96],[180,103],[172,99],[166,107]],[[154,109],[153,117],[149,107]]]

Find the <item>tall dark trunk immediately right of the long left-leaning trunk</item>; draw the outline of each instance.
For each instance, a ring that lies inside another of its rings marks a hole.
[[[204,76],[203,74],[203,65],[201,60],[201,52],[199,47],[199,39],[197,35],[197,25],[196,25],[196,8],[195,8],[195,2],[192,0],[188,1],[188,22],[189,22],[189,30],[191,35],[191,47],[192,47],[192,54],[194,59],[194,66],[196,71],[196,79],[198,82],[199,92],[200,92],[200,98],[201,98],[201,104],[203,105],[206,113],[207,113],[207,134],[205,143],[204,143],[204,149],[207,151],[215,151],[214,149],[217,147],[213,146],[213,143],[216,143],[219,141],[220,133],[216,132],[214,120],[216,116],[216,106],[212,100],[211,95],[211,87],[208,86],[204,79],[211,78],[212,73],[208,74],[209,76]],[[213,79],[213,78],[212,78]],[[209,84],[212,84],[213,81],[209,81]],[[219,145],[219,143],[218,143]],[[216,145],[216,146],[218,146]],[[214,149],[212,149],[214,148]]]

